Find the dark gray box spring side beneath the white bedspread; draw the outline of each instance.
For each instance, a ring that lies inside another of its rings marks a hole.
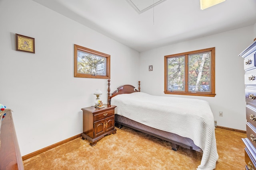
[[[181,147],[187,148],[187,149],[192,149],[196,150],[198,152],[202,152],[202,149],[200,149],[198,146],[194,144],[192,139],[186,138],[186,137],[181,137],[180,135],[154,129],[153,127],[148,127],[146,125],[143,125],[142,123],[138,123],[136,121],[133,121],[131,119],[128,119],[126,117],[123,117],[121,115],[115,114],[115,123],[119,125],[124,125],[126,127],[130,127],[132,129],[144,132],[146,134],[152,135],[154,137],[158,137],[160,139],[163,139],[165,141],[168,141],[172,143],[173,150],[175,150],[176,146],[179,145]],[[173,145],[174,144],[174,145]]]

